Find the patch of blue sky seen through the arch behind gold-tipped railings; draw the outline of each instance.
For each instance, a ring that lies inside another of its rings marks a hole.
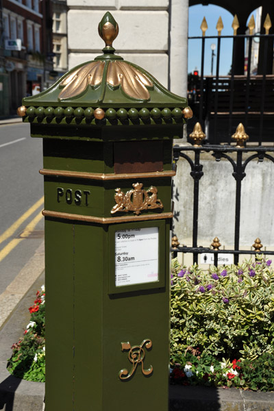
[[[227,12],[224,8],[217,5],[192,5],[189,8],[189,21],[188,21],[188,36],[201,36],[200,29],[203,17],[206,17],[208,23],[208,30],[206,36],[218,36],[216,30],[216,24],[221,16],[223,20],[222,36],[232,36],[232,21],[234,16]],[[255,17],[255,13],[254,13]],[[248,19],[249,20],[249,19]],[[204,75],[211,75],[211,58],[212,50],[210,45],[215,43],[217,45],[216,38],[209,38],[206,40],[205,47],[205,66]],[[216,50],[214,51],[216,54]],[[232,64],[232,39],[221,40],[221,55],[220,55],[220,69],[219,75],[227,75]],[[201,73],[201,40],[188,40],[188,73],[193,73],[195,69]],[[216,57],[214,57],[214,69],[213,74],[216,73]]]

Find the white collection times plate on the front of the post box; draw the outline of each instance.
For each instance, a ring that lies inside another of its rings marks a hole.
[[[115,285],[130,286],[159,279],[159,228],[115,232]]]

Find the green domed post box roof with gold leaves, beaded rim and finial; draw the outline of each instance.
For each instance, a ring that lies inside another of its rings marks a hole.
[[[187,100],[141,67],[114,54],[119,27],[110,12],[99,23],[103,55],[71,69],[49,89],[23,99],[18,114],[45,125],[164,125],[191,116]]]

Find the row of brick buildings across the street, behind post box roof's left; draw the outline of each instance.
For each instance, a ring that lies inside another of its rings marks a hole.
[[[22,97],[52,83],[53,55],[50,0],[1,0],[0,9],[1,116],[14,113]]]

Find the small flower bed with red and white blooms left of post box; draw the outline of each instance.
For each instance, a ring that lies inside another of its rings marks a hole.
[[[23,337],[12,345],[8,371],[28,381],[45,382],[45,287],[37,291],[34,305],[29,307],[29,324]]]

